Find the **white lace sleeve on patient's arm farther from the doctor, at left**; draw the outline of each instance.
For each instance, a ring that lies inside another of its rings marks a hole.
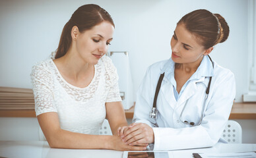
[[[33,66],[30,77],[34,92],[36,116],[47,112],[57,112],[53,101],[53,79],[46,63]]]

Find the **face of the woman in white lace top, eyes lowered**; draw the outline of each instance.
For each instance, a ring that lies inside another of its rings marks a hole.
[[[76,39],[76,49],[79,56],[86,62],[96,65],[106,54],[113,37],[113,25],[101,22],[90,30],[79,32]]]

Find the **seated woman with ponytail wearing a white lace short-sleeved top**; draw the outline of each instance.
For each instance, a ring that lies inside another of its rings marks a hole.
[[[55,59],[37,63],[31,78],[38,122],[50,147],[143,150],[117,136],[127,125],[118,76],[104,56],[112,41],[113,20],[98,5],[83,5],[63,28]],[[104,119],[113,136],[100,136]]]

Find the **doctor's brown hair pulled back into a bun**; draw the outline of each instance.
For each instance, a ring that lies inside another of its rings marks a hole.
[[[212,14],[205,9],[185,14],[177,24],[185,24],[185,28],[195,34],[205,49],[226,41],[230,34],[226,20],[220,14]]]

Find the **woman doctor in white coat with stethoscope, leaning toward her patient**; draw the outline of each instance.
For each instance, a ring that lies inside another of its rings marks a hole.
[[[204,9],[179,20],[171,39],[172,57],[149,66],[137,92],[134,123],[118,129],[123,142],[170,150],[224,141],[220,136],[234,102],[235,78],[208,54],[228,35],[226,20]],[[154,98],[157,117],[152,113]]]

